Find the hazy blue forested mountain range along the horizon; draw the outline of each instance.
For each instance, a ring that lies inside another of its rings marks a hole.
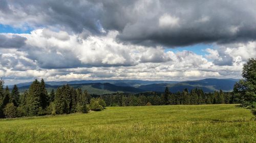
[[[142,93],[148,91],[164,92],[168,87],[170,92],[182,92],[185,88],[202,89],[204,92],[214,92],[223,90],[224,92],[232,91],[233,85],[239,79],[217,79],[206,78],[201,80],[188,81],[148,81],[148,80],[73,80],[73,81],[46,81],[48,91],[56,90],[64,84],[69,84],[71,87],[82,90],[87,90],[90,94],[111,94],[111,93]],[[23,93],[29,89],[32,82],[16,84],[20,92]],[[8,85],[11,89],[13,85]]]

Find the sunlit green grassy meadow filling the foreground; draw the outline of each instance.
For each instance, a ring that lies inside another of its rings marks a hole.
[[[108,107],[2,119],[0,142],[256,142],[256,121],[227,104]]]

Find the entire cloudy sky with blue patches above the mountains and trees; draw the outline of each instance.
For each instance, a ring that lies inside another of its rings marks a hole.
[[[241,78],[256,58],[256,1],[0,0],[6,84]]]

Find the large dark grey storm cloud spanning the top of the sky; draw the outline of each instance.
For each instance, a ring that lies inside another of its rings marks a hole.
[[[3,2],[4,24],[24,22],[90,34],[117,30],[119,41],[133,44],[175,47],[256,39],[256,1],[250,0]],[[9,7],[12,12],[7,13]]]

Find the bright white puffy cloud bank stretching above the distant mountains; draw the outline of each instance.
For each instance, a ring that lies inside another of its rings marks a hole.
[[[255,42],[216,45],[209,54],[164,51],[116,41],[117,31],[105,36],[87,36],[38,29],[18,49],[0,49],[0,76],[7,83],[44,78],[50,80],[143,79],[191,80],[209,77],[240,78],[246,59],[255,57]],[[218,65],[225,56],[231,65]]]

